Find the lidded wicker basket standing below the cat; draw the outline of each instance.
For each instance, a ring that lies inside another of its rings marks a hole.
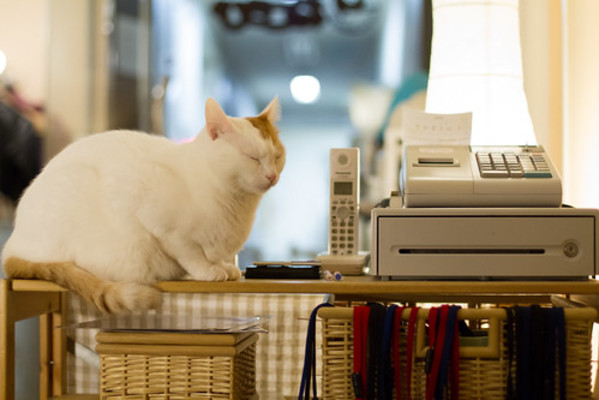
[[[227,399],[256,395],[255,333],[96,336],[101,399]]]

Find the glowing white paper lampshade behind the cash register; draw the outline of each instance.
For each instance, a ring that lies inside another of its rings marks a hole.
[[[536,144],[518,0],[433,0],[426,111],[472,112],[474,145]]]

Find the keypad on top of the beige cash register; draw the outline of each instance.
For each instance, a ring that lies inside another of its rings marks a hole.
[[[476,161],[483,178],[551,178],[551,170],[541,153],[477,152]]]

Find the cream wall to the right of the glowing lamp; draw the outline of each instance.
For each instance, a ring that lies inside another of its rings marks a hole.
[[[564,202],[599,207],[599,1],[521,0],[524,85]]]

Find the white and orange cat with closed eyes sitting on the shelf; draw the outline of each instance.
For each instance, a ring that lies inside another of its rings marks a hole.
[[[256,117],[213,99],[189,143],[111,131],[78,140],[27,188],[2,253],[10,278],[62,285],[108,313],[154,308],[160,280],[235,280],[285,148],[275,98]]]

